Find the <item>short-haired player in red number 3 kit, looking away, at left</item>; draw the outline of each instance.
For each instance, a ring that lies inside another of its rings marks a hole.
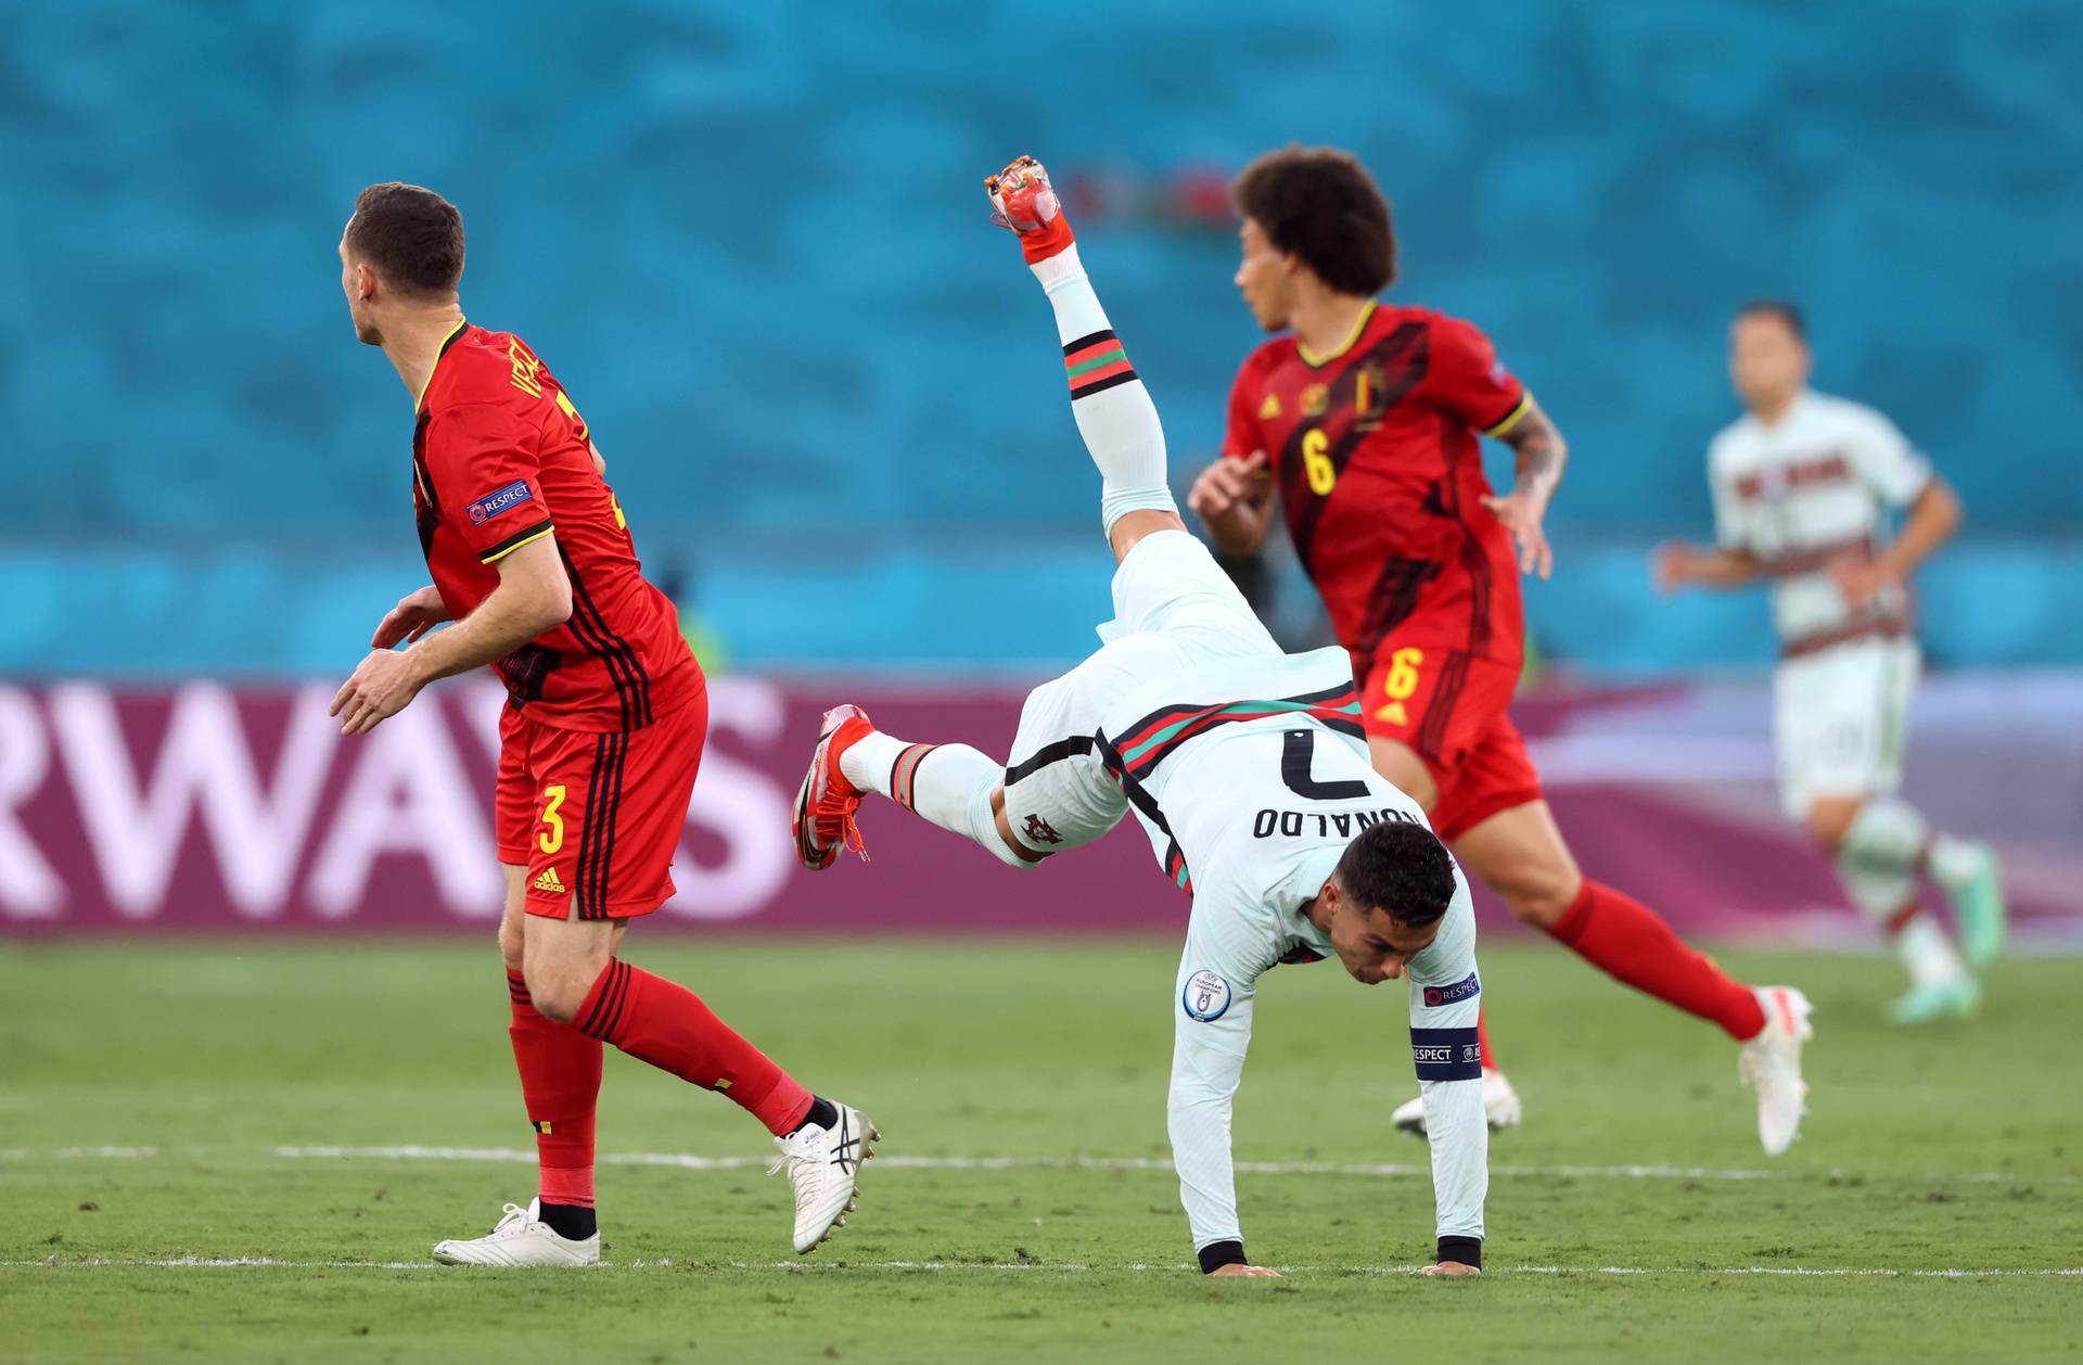
[[[340,273],[356,340],[381,346],[412,394],[412,504],[433,584],[383,617],[333,715],[367,734],[429,681],[485,665],[508,692],[500,952],[539,1188],[433,1259],[600,1261],[604,1042],[760,1119],[796,1192],[796,1250],[812,1250],[846,1221],[875,1127],[812,1096],[694,992],[617,957],[629,921],[673,896],[708,686],[673,602],[644,577],[585,421],[521,338],[465,321],[462,215],[440,194],[362,190]]]

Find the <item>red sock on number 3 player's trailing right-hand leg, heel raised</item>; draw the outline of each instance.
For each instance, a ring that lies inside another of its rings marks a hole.
[[[575,1023],[637,1061],[721,1090],[777,1138],[810,1113],[810,1092],[685,986],[614,959],[594,982]]]

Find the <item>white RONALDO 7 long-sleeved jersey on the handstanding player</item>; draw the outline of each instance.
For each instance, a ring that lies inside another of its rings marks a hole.
[[[1241,1236],[1229,1115],[1258,977],[1277,963],[1333,957],[1302,907],[1360,829],[1383,819],[1429,827],[1425,811],[1375,773],[1358,731],[1352,661],[1337,648],[1208,663],[1106,713],[1108,771],[1123,775],[1166,875],[1194,894],[1173,984],[1169,1130],[1196,1248]],[[1437,938],[1410,959],[1406,990],[1437,1232],[1481,1238],[1489,1132],[1473,1082],[1483,986],[1475,902],[1458,867],[1454,900]]]

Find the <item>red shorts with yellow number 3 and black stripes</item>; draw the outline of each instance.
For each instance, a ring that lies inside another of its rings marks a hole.
[[[687,823],[708,734],[708,690],[629,731],[558,729],[500,715],[492,800],[500,863],[527,867],[529,915],[629,919],[673,898],[673,852]]]

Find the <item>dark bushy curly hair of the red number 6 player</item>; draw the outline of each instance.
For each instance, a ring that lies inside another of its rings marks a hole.
[[[1350,152],[1285,146],[1229,185],[1237,213],[1266,229],[1273,248],[1339,294],[1379,294],[1396,281],[1389,202]]]

